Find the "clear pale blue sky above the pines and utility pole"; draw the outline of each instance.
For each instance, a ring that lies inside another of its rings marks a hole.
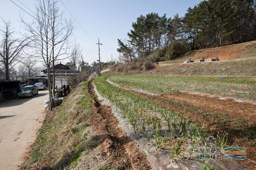
[[[13,2],[29,11],[17,0]],[[102,61],[110,61],[111,54],[113,59],[117,59],[119,54],[116,51],[117,39],[127,39],[127,32],[132,29],[132,22],[140,15],[146,15],[156,12],[160,16],[167,14],[167,17],[173,17],[175,14],[184,16],[188,7],[194,7],[202,0],[62,0],[66,7],[70,10],[74,17],[80,22],[82,27],[90,34],[90,36],[98,41],[100,38],[101,46],[100,54]],[[35,0],[20,0],[30,10],[34,11]],[[66,8],[59,2],[60,10],[63,10],[66,18],[72,18]],[[10,0],[1,0],[0,16],[4,19],[12,21],[16,30],[19,29],[20,13],[26,18],[31,18],[28,14],[15,6]],[[89,63],[96,61],[98,58],[98,46],[84,30],[76,23],[74,19],[74,41],[76,37],[77,43],[82,49],[83,59]],[[2,26],[2,22],[0,22]],[[87,51],[89,49],[90,51]]]

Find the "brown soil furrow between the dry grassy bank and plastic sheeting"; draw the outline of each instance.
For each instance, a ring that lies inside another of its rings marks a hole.
[[[98,102],[92,82],[90,82],[88,89],[88,93],[94,96],[93,106],[95,110],[90,124],[96,134],[100,135],[104,141],[98,149],[103,150],[108,155],[116,155],[115,159],[112,160],[112,165],[118,169],[152,169],[146,154],[139,150],[137,143],[132,141],[118,125],[118,120],[112,113],[111,107]]]

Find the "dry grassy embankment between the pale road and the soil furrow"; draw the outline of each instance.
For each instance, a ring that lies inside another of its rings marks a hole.
[[[90,114],[86,114],[92,112],[88,98],[83,82],[64,99],[60,107],[54,108],[56,113],[52,120],[46,121],[38,131],[31,157],[25,163],[26,169],[74,167],[82,152],[96,147],[98,138],[88,138],[92,131],[88,129]]]

